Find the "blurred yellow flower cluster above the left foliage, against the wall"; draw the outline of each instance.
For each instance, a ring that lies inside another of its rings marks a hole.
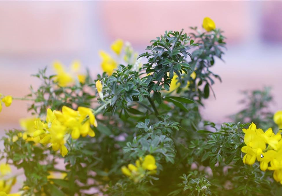
[[[53,63],[53,68],[57,74],[55,76],[55,82],[62,87],[66,87],[67,85],[71,85],[77,77],[80,83],[85,83],[86,76],[80,74],[80,67],[79,61],[73,61],[71,71],[67,72],[65,67],[59,61],[55,61]]]

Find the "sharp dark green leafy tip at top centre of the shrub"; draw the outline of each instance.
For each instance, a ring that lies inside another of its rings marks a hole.
[[[193,40],[183,33],[183,29],[181,32],[166,31],[164,35],[152,40],[151,43],[152,45],[146,48],[146,50],[150,50],[150,53],[143,53],[139,58],[146,57],[148,59],[148,62],[143,65],[146,74],[153,73],[149,76],[151,82],[148,91],[156,92],[160,91],[162,86],[168,88],[174,74],[181,79],[182,73],[187,74],[191,70],[186,61],[188,56],[192,58],[188,50],[190,50],[190,46],[198,46],[198,44],[193,43]]]

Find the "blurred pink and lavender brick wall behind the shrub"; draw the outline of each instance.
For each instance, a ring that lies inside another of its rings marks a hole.
[[[240,110],[241,90],[272,87],[273,111],[282,109],[282,1],[1,1],[0,92],[22,97],[38,68],[54,60],[69,66],[75,59],[101,73],[98,51],[110,51],[121,38],[142,53],[149,41],[165,30],[189,32],[210,17],[227,37],[225,62],[216,60],[212,71],[216,99],[202,109],[204,118],[222,123]],[[52,73],[52,69],[49,69]],[[52,73],[53,74],[53,73]],[[18,128],[30,116],[28,101],[14,101],[0,113],[0,135]]]

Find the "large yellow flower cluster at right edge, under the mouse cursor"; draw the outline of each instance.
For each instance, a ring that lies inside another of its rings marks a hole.
[[[269,128],[263,132],[252,123],[245,133],[244,142],[246,146],[241,151],[246,153],[243,158],[244,164],[252,165],[255,160],[260,162],[260,169],[274,171],[274,180],[282,184],[282,139],[281,133],[274,134]],[[261,154],[263,156],[261,156]],[[269,166],[270,163],[270,166]]]

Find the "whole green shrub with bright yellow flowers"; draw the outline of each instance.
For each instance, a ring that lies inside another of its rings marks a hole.
[[[213,20],[203,28],[166,31],[140,55],[118,39],[95,79],[56,61],[26,97],[1,94],[0,111],[29,100],[33,117],[2,138],[0,195],[281,195],[282,112],[265,112],[268,90],[246,92],[235,123],[201,118],[225,48]],[[17,193],[9,165],[26,177]]]

